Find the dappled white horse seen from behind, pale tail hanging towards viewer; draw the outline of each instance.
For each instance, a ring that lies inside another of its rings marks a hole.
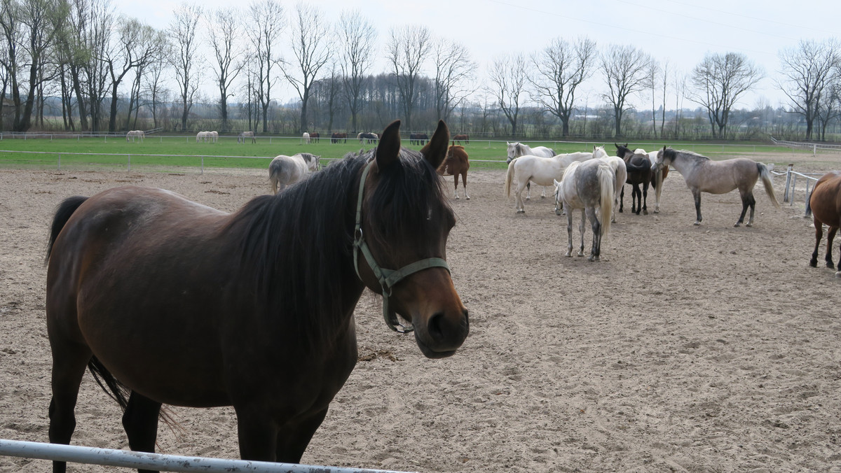
[[[606,160],[574,161],[555,185],[555,207],[567,210],[567,256],[573,255],[573,211],[581,209],[579,256],[584,256],[584,228],[587,218],[593,229],[590,261],[600,260],[601,238],[611,229],[616,173]],[[598,208],[598,213],[596,209]]]

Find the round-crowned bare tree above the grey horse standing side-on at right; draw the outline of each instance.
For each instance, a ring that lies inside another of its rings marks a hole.
[[[752,89],[764,72],[740,53],[707,54],[692,70],[689,98],[703,108],[710,120],[712,136],[727,136],[727,120],[733,105]]]

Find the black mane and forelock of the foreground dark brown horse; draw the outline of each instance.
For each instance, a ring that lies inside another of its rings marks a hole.
[[[352,233],[359,177],[374,152],[348,154],[275,196],[255,197],[230,223],[241,234],[240,271],[253,285],[257,306],[313,343],[334,333],[353,309],[348,301],[355,305],[362,293]],[[389,243],[420,242],[441,231],[430,228],[430,212],[452,220],[436,171],[420,152],[403,149],[368,199],[373,231],[366,239],[386,250]]]

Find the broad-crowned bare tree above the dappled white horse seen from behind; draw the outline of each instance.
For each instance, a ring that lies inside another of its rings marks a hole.
[[[579,38],[570,44],[560,38],[532,55],[537,76],[530,81],[533,96],[549,113],[561,120],[561,134],[569,136],[569,120],[575,111],[575,92],[593,74],[595,41]]]

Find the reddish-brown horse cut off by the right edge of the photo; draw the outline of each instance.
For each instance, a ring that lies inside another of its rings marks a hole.
[[[821,244],[823,236],[823,225],[829,227],[827,234],[827,267],[835,269],[833,265],[833,239],[841,226],[841,171],[829,171],[815,182],[809,202],[806,206],[806,214],[812,213],[815,221],[815,251],[812,252],[812,260],[809,265],[817,267],[817,247]],[[838,272],[835,276],[841,277],[841,259],[838,259]]]

